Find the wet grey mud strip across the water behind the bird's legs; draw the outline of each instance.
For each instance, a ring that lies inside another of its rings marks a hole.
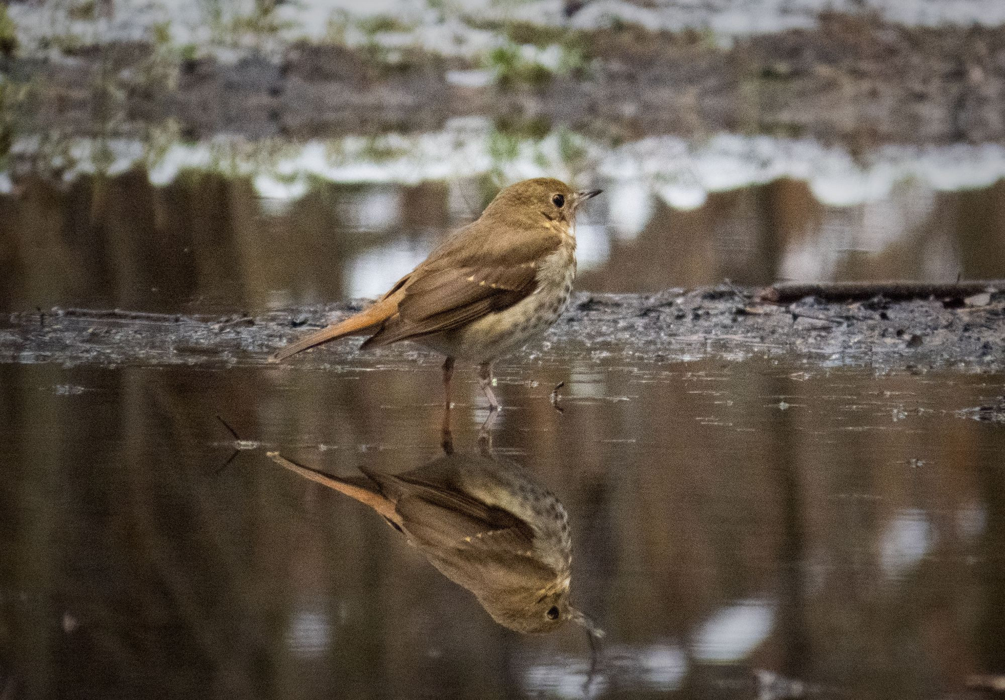
[[[663,362],[761,356],[877,370],[1005,370],[1002,292],[967,302],[807,297],[788,304],[764,302],[758,294],[728,284],[653,295],[577,293],[543,341],[528,345],[525,358],[623,355]],[[76,309],[12,313],[0,319],[0,364],[264,365],[276,347],[361,308],[351,302],[228,317]],[[410,343],[360,352],[360,342],[327,345],[277,370],[328,369],[364,359],[439,362],[434,353]]]

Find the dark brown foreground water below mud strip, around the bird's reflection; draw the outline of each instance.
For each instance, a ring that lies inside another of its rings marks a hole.
[[[467,370],[461,456],[485,417]],[[498,374],[493,454],[569,513],[573,601],[607,633],[595,663],[576,626],[504,629],[373,511],[266,458],[342,476],[428,464],[433,358],[6,364],[11,697],[960,697],[1005,670],[1005,430],[966,410],[1000,401],[1005,376]]]

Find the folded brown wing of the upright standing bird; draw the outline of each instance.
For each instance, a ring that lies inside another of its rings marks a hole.
[[[506,240],[510,244],[500,243]],[[462,229],[409,276],[398,314],[365,346],[449,331],[510,308],[534,294],[541,258],[561,244],[562,236],[550,229]]]

